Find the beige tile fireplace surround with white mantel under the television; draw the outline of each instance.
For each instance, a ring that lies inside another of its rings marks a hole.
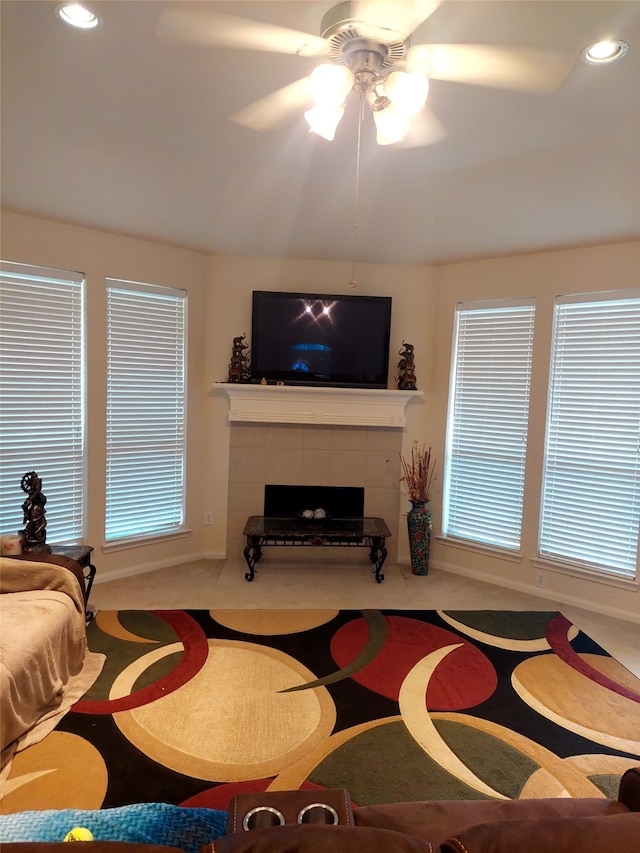
[[[228,559],[242,561],[247,517],[262,515],[265,484],[278,483],[364,487],[364,514],[385,519],[388,560],[397,560],[404,409],[421,392],[214,388],[230,400]],[[366,563],[357,548],[306,548],[304,557]],[[299,549],[280,548],[277,559],[299,561]]]

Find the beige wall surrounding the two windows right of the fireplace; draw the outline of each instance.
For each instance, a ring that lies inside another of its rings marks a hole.
[[[522,554],[515,561],[497,558],[487,549],[454,547],[438,540],[433,564],[449,571],[497,581],[515,589],[535,588],[539,566],[533,565],[539,522],[540,480],[547,404],[547,378],[551,345],[553,301],[557,294],[586,293],[637,287],[640,243],[590,247],[571,251],[523,255],[513,258],[450,264],[441,268],[438,290],[436,338],[431,400],[434,407],[431,441],[443,458],[454,309],[457,302],[535,297],[536,324],[531,386],[531,413],[525,481]],[[434,501],[434,529],[441,530],[442,483]],[[594,507],[594,524],[598,507]],[[602,547],[607,547],[602,530]],[[544,568],[546,588],[535,591],[560,602],[584,604],[612,615],[639,618],[637,585],[616,587]]]

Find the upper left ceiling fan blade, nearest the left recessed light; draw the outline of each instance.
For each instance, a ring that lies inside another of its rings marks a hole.
[[[318,56],[328,46],[326,39],[309,33],[277,27],[233,15],[207,14],[169,9],[160,15],[157,33],[162,38],[270,53]]]

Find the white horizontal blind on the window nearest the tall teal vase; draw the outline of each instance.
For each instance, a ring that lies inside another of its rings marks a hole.
[[[520,547],[535,306],[456,310],[443,532]]]

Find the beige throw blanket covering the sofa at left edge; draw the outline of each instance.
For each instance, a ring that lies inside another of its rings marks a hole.
[[[93,684],[104,658],[87,656],[82,591],[67,569],[4,558],[0,592],[4,765],[16,748],[23,749],[51,731],[61,713]],[[76,683],[86,657],[88,671]]]

